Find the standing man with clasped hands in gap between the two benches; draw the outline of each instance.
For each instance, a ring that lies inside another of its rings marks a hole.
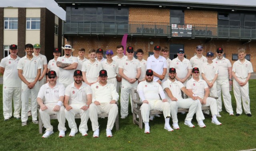
[[[127,59],[119,63],[119,75],[122,76],[122,88],[120,94],[121,118],[128,116],[129,94],[132,107],[131,88],[138,86],[138,78],[140,77],[140,61],[133,57],[134,50],[132,46],[127,47]]]

